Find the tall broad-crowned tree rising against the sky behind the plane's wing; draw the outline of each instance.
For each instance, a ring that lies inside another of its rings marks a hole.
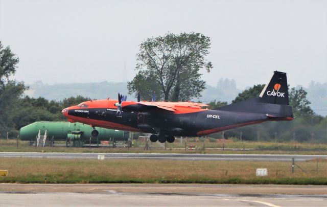
[[[157,100],[186,101],[200,97],[205,89],[199,70],[210,72],[210,38],[200,33],[167,33],[151,37],[140,45],[136,55],[138,74],[128,82],[129,94],[139,92],[146,99],[156,93]]]

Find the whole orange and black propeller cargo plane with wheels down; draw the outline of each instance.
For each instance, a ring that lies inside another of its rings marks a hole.
[[[173,143],[174,136],[202,136],[219,131],[266,121],[293,120],[289,106],[286,73],[273,73],[259,97],[213,110],[208,105],[193,102],[137,102],[90,100],[62,110],[69,122],[96,127],[151,133],[151,142]]]

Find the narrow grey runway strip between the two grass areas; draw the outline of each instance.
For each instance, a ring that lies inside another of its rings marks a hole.
[[[34,157],[61,159],[175,159],[175,160],[239,160],[239,161],[290,161],[327,159],[327,155],[286,155],[286,154],[165,154],[165,153],[63,153],[63,152],[0,152],[0,157]]]

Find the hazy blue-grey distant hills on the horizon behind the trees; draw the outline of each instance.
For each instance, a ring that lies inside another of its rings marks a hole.
[[[300,86],[297,86],[298,88]],[[315,113],[321,116],[327,116],[327,83],[311,82],[308,88],[308,100],[311,102],[311,108]],[[226,101],[230,103],[242,90],[236,88],[234,80],[220,79],[217,86],[206,85],[202,92],[202,97],[192,101],[201,101],[209,103],[214,100]],[[37,81],[30,85],[30,89],[25,92],[26,95],[38,98],[44,97],[48,100],[60,101],[71,96],[81,95],[91,99],[117,99],[118,93],[127,95],[127,83],[110,83],[107,81],[100,83],[67,83],[67,84],[43,84]],[[131,95],[128,100],[135,100]]]

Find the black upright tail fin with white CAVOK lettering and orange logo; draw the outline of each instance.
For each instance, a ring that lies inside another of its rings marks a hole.
[[[289,105],[286,73],[275,71],[260,98],[264,103]]]

